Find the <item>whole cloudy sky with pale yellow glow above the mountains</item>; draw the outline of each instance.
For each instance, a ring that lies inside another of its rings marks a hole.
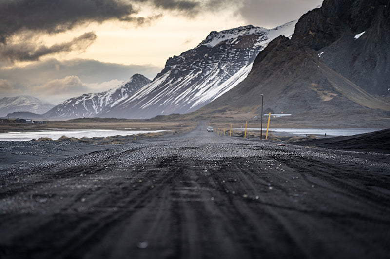
[[[0,0],[0,97],[59,104],[140,73],[211,31],[273,28],[322,0]]]

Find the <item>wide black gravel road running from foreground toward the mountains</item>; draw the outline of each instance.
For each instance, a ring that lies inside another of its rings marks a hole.
[[[205,123],[81,153],[0,167],[0,258],[390,254],[389,155],[229,138]]]

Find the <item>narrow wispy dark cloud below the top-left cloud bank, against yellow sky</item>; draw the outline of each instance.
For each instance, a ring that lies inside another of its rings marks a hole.
[[[94,32],[85,33],[73,40],[47,47],[37,46],[29,41],[0,45],[0,61],[37,61],[40,57],[72,51],[85,51],[96,40]]]

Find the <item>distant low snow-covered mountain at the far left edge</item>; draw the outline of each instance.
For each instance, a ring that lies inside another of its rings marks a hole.
[[[38,98],[28,95],[4,97],[0,99],[0,116],[6,116],[8,113],[20,111],[44,113],[53,107],[54,104],[42,102]]]

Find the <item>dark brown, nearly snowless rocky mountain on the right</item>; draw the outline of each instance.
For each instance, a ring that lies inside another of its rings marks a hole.
[[[390,84],[388,2],[325,0],[299,19],[291,39],[280,36],[260,52],[241,84],[197,114],[259,114],[264,94],[265,113],[292,113],[313,124],[334,116],[388,118],[390,104],[378,96]]]

